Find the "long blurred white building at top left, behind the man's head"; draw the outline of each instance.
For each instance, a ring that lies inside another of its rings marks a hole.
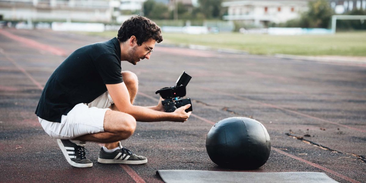
[[[0,0],[4,20],[118,22],[130,16],[120,10],[141,10],[146,0]]]

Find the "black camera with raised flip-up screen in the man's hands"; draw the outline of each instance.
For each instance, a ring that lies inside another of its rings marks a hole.
[[[183,71],[182,74],[180,74],[178,80],[175,82],[175,86],[165,87],[155,92],[155,94],[159,93],[161,98],[164,99],[163,101],[161,101],[161,104],[163,104],[165,112],[174,112],[175,109],[187,104],[191,104],[191,107],[189,107],[185,111],[192,111],[191,99],[180,98],[186,96],[186,86],[188,85],[188,82],[191,80],[191,78],[192,77],[190,75]]]

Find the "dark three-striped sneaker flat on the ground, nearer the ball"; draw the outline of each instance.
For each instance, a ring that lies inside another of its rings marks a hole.
[[[144,164],[147,163],[147,158],[143,156],[137,156],[132,154],[132,152],[124,147],[122,147],[121,142],[119,143],[120,149],[115,150],[115,152],[108,153],[100,149],[98,162],[99,163],[121,163],[121,164]]]

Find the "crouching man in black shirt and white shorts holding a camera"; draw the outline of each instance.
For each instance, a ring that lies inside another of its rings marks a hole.
[[[136,65],[149,59],[155,42],[163,41],[161,29],[151,20],[132,16],[117,37],[77,49],[48,79],[36,109],[46,133],[57,138],[66,160],[74,167],[91,167],[85,142],[104,143],[99,163],[143,164],[122,147],[120,140],[130,137],[136,121],[187,121],[190,104],[164,112],[161,98],[157,106],[133,105],[138,90],[137,76],[122,71],[121,61]]]

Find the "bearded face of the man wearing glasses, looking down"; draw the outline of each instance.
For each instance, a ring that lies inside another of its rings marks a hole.
[[[128,51],[128,58],[127,61],[131,64],[136,65],[137,62],[143,59],[150,59],[151,53],[150,50],[154,49],[155,47],[155,40],[149,39],[145,41],[145,44],[142,43],[141,46],[134,44],[132,48]],[[149,53],[150,52],[150,53]],[[148,54],[147,54],[148,53]]]

